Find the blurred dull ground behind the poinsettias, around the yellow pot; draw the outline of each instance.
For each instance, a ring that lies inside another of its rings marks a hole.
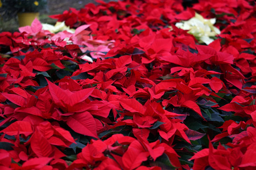
[[[111,0],[105,0],[105,2],[109,2]],[[53,15],[53,14],[61,14],[63,11],[68,10],[69,7],[73,8],[82,8],[84,7],[87,3],[96,3],[94,0],[49,0],[48,1],[48,9],[40,12],[40,21],[42,23],[49,23],[53,24],[56,22],[56,20],[48,18],[48,15]],[[0,32],[3,31],[18,31],[18,19],[14,18],[11,20],[3,21],[3,19],[0,16]]]

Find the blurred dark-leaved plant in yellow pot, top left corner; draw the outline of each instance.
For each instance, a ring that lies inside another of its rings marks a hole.
[[[0,0],[0,15],[4,20],[18,15],[19,26],[31,25],[39,17],[39,11],[47,6],[47,0]]]

